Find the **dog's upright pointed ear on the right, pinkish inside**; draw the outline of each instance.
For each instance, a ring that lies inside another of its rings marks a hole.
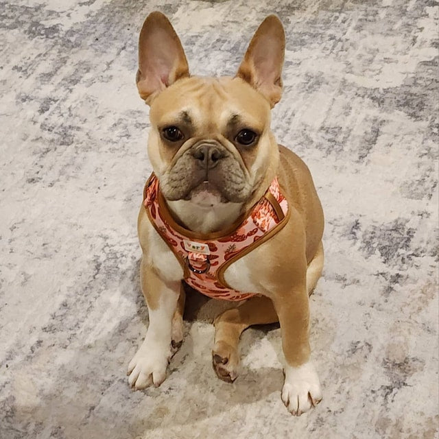
[[[283,25],[277,16],[269,15],[255,32],[236,74],[268,99],[272,108],[282,95],[284,53]]]

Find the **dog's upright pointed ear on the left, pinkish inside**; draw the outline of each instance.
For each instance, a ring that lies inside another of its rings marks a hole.
[[[152,12],[146,17],[139,37],[139,95],[150,104],[152,96],[187,76],[185,51],[174,27],[161,12]]]

